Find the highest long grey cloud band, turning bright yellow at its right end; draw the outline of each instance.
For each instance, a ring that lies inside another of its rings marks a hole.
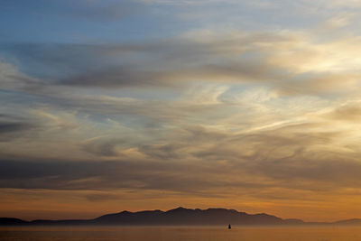
[[[351,51],[350,46],[358,46],[356,37],[318,42],[305,32],[226,32],[223,36],[200,32],[117,45],[7,45],[20,60],[31,60],[30,65],[42,71],[17,73],[41,82],[19,77],[17,81],[48,92],[59,87],[184,89],[193,82],[208,82],[264,85],[286,96],[342,96],[356,91],[358,47]]]

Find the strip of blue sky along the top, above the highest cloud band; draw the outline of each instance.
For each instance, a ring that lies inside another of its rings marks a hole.
[[[308,1],[38,0],[3,1],[0,7],[2,41],[42,43],[143,41],[204,27],[301,29],[340,10]]]

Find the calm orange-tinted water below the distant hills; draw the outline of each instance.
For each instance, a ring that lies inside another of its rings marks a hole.
[[[0,227],[22,241],[359,241],[361,227]]]

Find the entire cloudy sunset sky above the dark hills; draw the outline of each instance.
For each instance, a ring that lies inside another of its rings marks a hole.
[[[0,217],[361,218],[358,0],[0,1]]]

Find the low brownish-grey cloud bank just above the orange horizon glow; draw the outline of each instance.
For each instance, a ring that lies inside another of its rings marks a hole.
[[[138,146],[143,156],[118,154],[113,161],[103,159],[109,155],[107,147],[95,151],[97,160],[103,161],[3,158],[0,185],[13,189],[169,190],[196,196],[214,190],[227,194],[228,190],[221,190],[225,186],[245,193],[275,186],[335,193],[356,188],[360,184],[359,152],[340,148],[338,141],[347,133],[317,131],[322,125],[285,125],[255,134],[193,128],[182,137],[167,139],[167,144]],[[99,146],[107,143],[104,140]],[[113,144],[121,143],[111,143],[111,148]]]

